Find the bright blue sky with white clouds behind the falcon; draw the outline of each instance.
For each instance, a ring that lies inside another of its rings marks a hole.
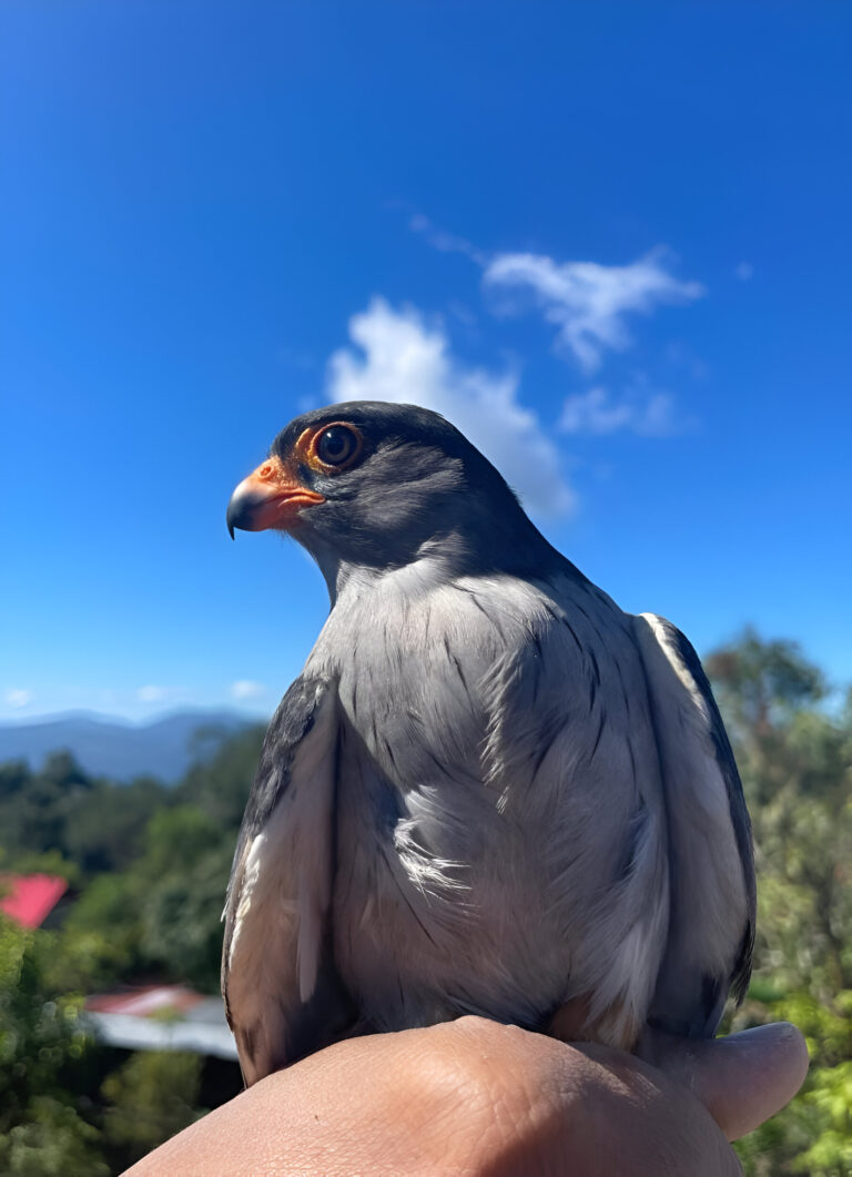
[[[327,611],[225,530],[304,407],[457,420],[706,652],[852,679],[852,8],[0,8],[0,718],[268,712]]]

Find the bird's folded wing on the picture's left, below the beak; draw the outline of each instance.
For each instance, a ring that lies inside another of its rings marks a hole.
[[[266,733],[225,905],[221,985],[251,1084],[351,1020],[331,953],[338,703],[298,678]]]

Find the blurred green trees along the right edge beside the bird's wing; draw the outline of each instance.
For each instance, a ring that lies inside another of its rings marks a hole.
[[[733,737],[758,866],[754,976],[733,1026],[788,1019],[801,1093],[738,1145],[753,1177],[852,1171],[852,709],[798,646],[753,631],[706,659]]]

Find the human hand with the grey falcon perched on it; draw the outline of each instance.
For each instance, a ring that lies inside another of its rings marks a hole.
[[[255,1084],[127,1177],[284,1173],[738,1173],[727,1144],[796,1095],[790,1025],[654,1037],[657,1065],[461,1018],[352,1038]]]

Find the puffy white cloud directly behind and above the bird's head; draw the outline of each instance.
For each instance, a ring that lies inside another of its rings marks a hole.
[[[350,320],[345,347],[328,361],[331,400],[390,400],[441,413],[504,474],[540,514],[564,514],[574,503],[559,450],[537,414],[519,404],[517,372],[468,367],[451,352],[444,330],[413,308],[380,298]]]

